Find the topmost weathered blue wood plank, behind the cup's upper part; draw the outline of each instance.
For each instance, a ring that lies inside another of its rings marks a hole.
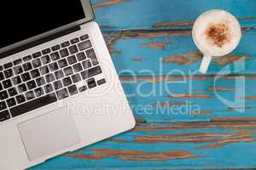
[[[234,14],[241,26],[256,26],[252,0],[93,0],[96,20],[109,30],[191,28],[204,11],[221,8]],[[193,5],[192,5],[193,4]]]

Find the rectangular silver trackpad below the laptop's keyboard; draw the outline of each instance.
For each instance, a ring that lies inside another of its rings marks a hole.
[[[67,108],[38,116],[18,125],[30,161],[55,154],[80,143],[78,130]]]

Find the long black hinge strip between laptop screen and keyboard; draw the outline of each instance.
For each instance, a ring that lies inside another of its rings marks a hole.
[[[70,33],[74,32],[74,31],[79,31],[80,29],[81,29],[80,26],[74,26],[74,27],[69,28],[67,30],[60,31],[60,32],[57,32],[55,34],[52,34],[52,35],[50,35],[48,37],[43,37],[41,39],[38,39],[37,41],[26,43],[25,45],[22,45],[22,46],[20,46],[18,48],[13,48],[13,49],[10,49],[9,51],[3,52],[2,54],[0,54],[0,58],[2,59],[2,58],[7,57],[9,55],[19,53],[20,51],[24,51],[24,50],[26,50],[28,48],[35,47],[35,46],[40,45],[40,44],[42,44],[44,42],[49,42],[49,41],[51,41],[53,39],[65,36],[67,34],[70,34]]]

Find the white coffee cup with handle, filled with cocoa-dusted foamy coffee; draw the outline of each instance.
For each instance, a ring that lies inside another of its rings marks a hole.
[[[200,72],[206,73],[212,57],[230,54],[237,47],[241,39],[241,26],[232,14],[224,10],[209,10],[195,20],[192,37],[204,55]]]

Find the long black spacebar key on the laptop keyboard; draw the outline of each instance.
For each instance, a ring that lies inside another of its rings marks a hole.
[[[20,116],[28,111],[33,111],[38,109],[39,107],[43,107],[44,105],[49,105],[57,101],[56,95],[48,94],[38,99],[33,99],[25,104],[18,105],[14,108],[11,108],[9,111],[13,117]]]

